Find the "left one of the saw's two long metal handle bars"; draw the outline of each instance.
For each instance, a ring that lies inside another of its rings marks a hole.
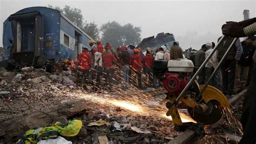
[[[205,67],[206,63],[210,60],[210,58],[212,57],[213,53],[219,48],[220,43],[222,42],[222,40],[224,39],[224,35],[220,38],[219,42],[217,43],[217,45],[215,46],[215,49],[213,49],[213,51],[209,54],[209,56],[205,59],[204,63],[199,67],[198,71],[194,74],[194,76],[191,78],[191,80],[188,82],[188,84],[185,86],[185,88],[183,89],[183,91],[179,94],[179,96],[176,98],[176,100],[173,101],[173,103],[171,104],[171,107],[173,105],[176,104],[177,101],[179,101],[179,99],[183,96],[183,94],[188,90],[188,88],[191,86],[191,84],[193,83],[193,81],[197,78],[199,72]]]

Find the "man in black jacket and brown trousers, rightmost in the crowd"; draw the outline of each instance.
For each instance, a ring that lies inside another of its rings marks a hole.
[[[252,45],[253,41],[254,37],[249,37],[241,43],[242,55],[237,65],[237,80],[241,88],[244,88],[246,85],[248,71],[253,62],[252,56],[255,51],[255,46]]]

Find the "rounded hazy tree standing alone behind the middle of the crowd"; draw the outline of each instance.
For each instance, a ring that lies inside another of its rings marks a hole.
[[[115,21],[103,24],[100,31],[103,32],[102,42],[110,43],[113,47],[137,45],[141,40],[140,33],[142,32],[139,27],[134,27],[130,23],[122,26]]]

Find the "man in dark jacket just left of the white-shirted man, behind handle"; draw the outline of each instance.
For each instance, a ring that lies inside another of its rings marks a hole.
[[[207,47],[206,47],[206,44],[204,44],[201,46],[201,49],[199,51],[197,51],[197,53],[194,56],[196,71],[205,61],[205,51],[206,50],[207,50]],[[201,70],[199,72],[198,77],[199,77],[197,80],[198,84],[203,85],[205,83],[205,67],[203,68],[203,70]]]

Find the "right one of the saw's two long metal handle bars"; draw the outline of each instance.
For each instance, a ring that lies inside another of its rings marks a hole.
[[[210,78],[207,80],[206,84],[204,85],[203,89],[200,91],[198,97],[201,96],[201,94],[205,91],[207,85],[210,83],[210,81],[212,80],[212,77],[214,76],[214,74],[219,70],[220,64],[223,63],[224,59],[226,58],[228,52],[230,52],[232,46],[235,44],[235,42],[237,42],[238,38],[234,38],[233,42],[231,43],[230,47],[228,47],[227,51],[225,52],[224,56],[221,58],[219,64],[217,65],[217,67],[215,68],[215,70],[213,71],[213,73],[211,74]]]

